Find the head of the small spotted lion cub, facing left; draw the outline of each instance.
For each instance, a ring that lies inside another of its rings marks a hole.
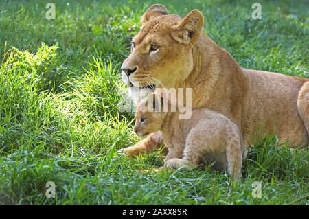
[[[152,93],[137,105],[135,112],[134,132],[144,138],[152,132],[161,130],[163,121],[168,114],[163,110],[165,102],[161,95]]]

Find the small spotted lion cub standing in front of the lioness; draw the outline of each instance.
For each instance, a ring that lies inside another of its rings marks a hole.
[[[225,169],[232,178],[240,178],[244,147],[236,124],[224,115],[206,109],[195,109],[190,119],[181,120],[178,112],[163,112],[163,107],[158,108],[164,104],[162,98],[153,93],[139,102],[134,132],[141,138],[152,132],[163,132],[168,148],[165,166],[179,168],[216,161],[216,169]]]

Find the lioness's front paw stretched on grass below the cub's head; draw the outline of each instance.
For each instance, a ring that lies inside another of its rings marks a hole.
[[[162,132],[155,132],[148,135],[146,139],[139,141],[134,146],[120,149],[119,152],[123,152],[126,156],[129,157],[135,157],[138,154],[147,154],[152,150],[158,149],[161,146],[162,141]]]

